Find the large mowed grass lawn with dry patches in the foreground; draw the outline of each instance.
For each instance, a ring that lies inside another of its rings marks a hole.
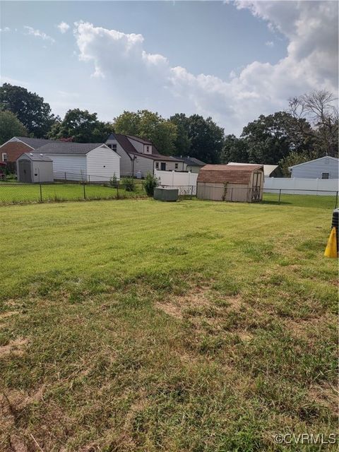
[[[269,200],[268,200],[269,201]],[[336,451],[331,209],[0,207],[1,451]]]

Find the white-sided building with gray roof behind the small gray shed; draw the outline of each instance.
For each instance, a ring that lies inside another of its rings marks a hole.
[[[103,143],[50,141],[35,150],[53,160],[54,179],[105,182],[120,179],[120,156]]]

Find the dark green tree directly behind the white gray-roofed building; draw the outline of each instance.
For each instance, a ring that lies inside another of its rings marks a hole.
[[[66,112],[64,119],[54,124],[49,138],[71,138],[77,143],[103,143],[112,131],[112,124],[99,121],[96,113],[76,108]]]

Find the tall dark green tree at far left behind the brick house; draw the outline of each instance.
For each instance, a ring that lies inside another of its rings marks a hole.
[[[10,83],[4,83],[0,87],[0,105],[16,114],[28,133],[36,138],[47,136],[56,119],[43,97]]]

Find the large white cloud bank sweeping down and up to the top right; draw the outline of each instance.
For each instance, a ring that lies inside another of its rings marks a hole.
[[[336,92],[338,6],[330,1],[237,1],[288,40],[287,56],[277,64],[254,61],[222,80],[172,67],[166,57],[149,54],[142,35],[75,23],[79,59],[92,61],[94,75],[120,91],[150,97],[175,111],[211,115],[227,133],[239,133],[259,114],[285,109],[288,97],[312,89]],[[143,97],[142,97],[143,96]],[[158,103],[155,105],[159,105]],[[152,108],[152,105],[147,105]]]

